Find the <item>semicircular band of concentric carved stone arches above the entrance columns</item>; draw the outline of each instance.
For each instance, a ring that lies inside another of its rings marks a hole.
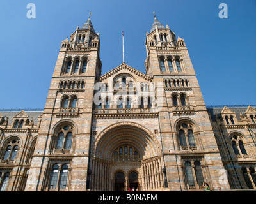
[[[143,159],[161,155],[161,145],[151,131],[136,122],[117,122],[96,138],[95,157],[111,160],[114,149],[123,143],[136,147]]]

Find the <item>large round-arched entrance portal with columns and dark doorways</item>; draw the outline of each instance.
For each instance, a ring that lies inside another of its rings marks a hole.
[[[114,125],[95,140],[92,191],[160,191],[164,188],[163,157],[147,129]]]

